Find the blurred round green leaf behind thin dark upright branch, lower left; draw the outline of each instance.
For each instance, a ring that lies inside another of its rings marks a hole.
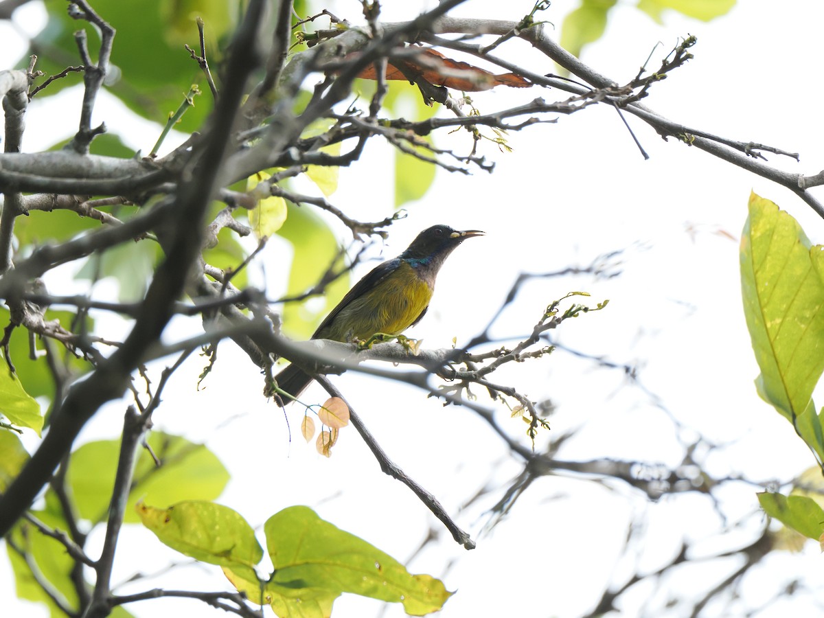
[[[132,508],[138,499],[155,504],[212,500],[226,487],[229,480],[226,468],[203,444],[162,432],[152,432],[147,442],[161,466],[155,465],[145,449],[140,451],[125,522],[140,521]],[[118,440],[87,442],[73,452],[69,462],[66,480],[77,513],[93,523],[103,521],[108,512],[119,449]]]

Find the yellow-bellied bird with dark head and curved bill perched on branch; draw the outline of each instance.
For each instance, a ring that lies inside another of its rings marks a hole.
[[[461,242],[482,236],[480,230],[459,232],[446,225],[425,229],[393,260],[376,266],[349,290],[312,339],[332,339],[349,343],[368,339],[376,333],[400,335],[417,324],[429,306],[435,278],[444,260]],[[312,378],[297,365],[283,369],[275,380],[283,391],[297,397]],[[275,396],[278,405],[291,400]]]

